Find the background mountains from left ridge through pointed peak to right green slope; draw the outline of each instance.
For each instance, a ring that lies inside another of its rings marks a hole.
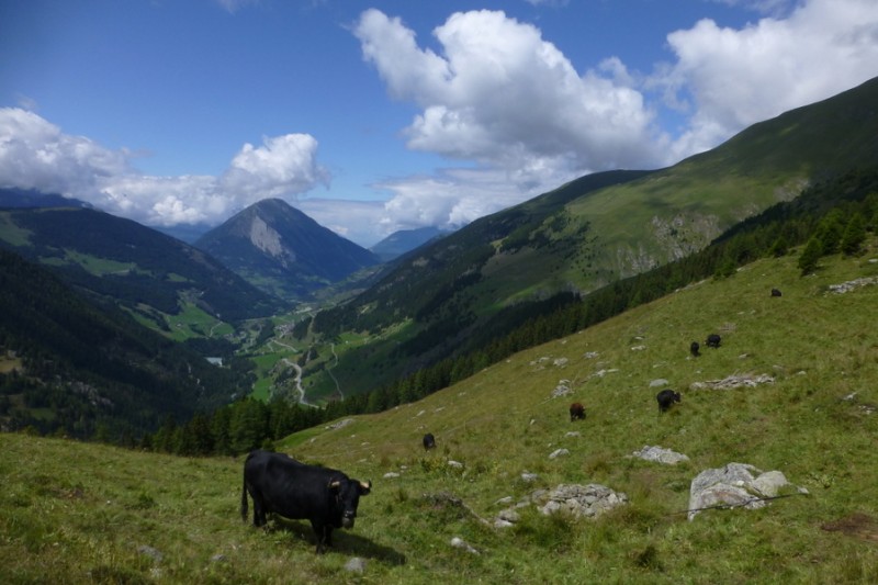
[[[821,181],[874,172],[876,103],[871,80],[666,169],[589,175],[439,238],[408,234],[427,241],[383,265],[280,200],[244,210],[196,246],[75,202],[0,205],[0,247],[166,337],[188,327],[177,338],[222,339],[248,352],[286,335],[269,317],[290,315],[291,301],[356,282],[363,290],[350,301],[295,325],[295,339],[280,345],[289,351],[260,349],[272,364],[301,362],[309,402],[322,403],[461,356],[545,307],[679,261]],[[5,190],[0,201],[23,195],[33,194]],[[260,375],[290,376],[270,371]]]

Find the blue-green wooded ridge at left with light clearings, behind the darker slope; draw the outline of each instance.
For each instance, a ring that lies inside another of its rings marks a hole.
[[[202,250],[91,209],[0,211],[0,246],[40,261],[97,300],[164,324],[191,303],[216,318],[264,317],[284,304]]]

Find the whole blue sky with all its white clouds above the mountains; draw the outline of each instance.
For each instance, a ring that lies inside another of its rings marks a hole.
[[[658,168],[878,76],[876,0],[0,2],[0,187],[369,246]]]

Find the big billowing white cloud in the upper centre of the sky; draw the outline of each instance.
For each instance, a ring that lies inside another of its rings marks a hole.
[[[536,26],[504,12],[452,14],[434,31],[441,55],[375,9],[354,34],[391,95],[423,109],[405,131],[410,148],[505,169],[563,162],[579,173],[661,160],[638,90],[616,75],[577,72]]]

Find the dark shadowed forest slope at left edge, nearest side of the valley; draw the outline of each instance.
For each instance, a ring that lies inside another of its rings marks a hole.
[[[210,364],[97,307],[45,268],[0,249],[0,426],[134,445],[249,393],[246,360]]]

